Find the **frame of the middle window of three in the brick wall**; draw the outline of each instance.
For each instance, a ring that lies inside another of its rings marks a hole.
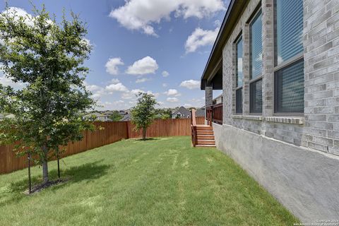
[[[261,6],[256,8],[255,13],[251,16],[251,20],[247,23],[249,25],[249,114],[253,115],[262,115],[263,114],[263,105],[261,105],[261,112],[251,112],[251,84],[256,83],[257,81],[263,81],[263,67],[261,67],[261,75],[252,78],[252,42],[251,42],[251,23],[257,18],[259,13],[263,13]],[[262,16],[262,15],[261,15]],[[262,22],[262,21],[261,21]],[[263,26],[261,25],[261,35],[263,34]],[[263,47],[261,47],[261,54],[263,54]],[[263,64],[263,60],[261,60]],[[261,97],[263,98],[263,88],[261,87]]]

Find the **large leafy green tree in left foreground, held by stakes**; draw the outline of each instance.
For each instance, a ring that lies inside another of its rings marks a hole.
[[[14,8],[0,14],[0,63],[7,78],[25,84],[14,90],[0,85],[0,112],[13,119],[0,124],[0,141],[19,142],[16,152],[37,155],[47,184],[48,165],[59,148],[80,141],[82,131],[94,129],[81,112],[95,101],[83,83],[88,68],[83,63],[92,49],[85,40],[85,23],[71,13],[58,24],[44,6],[33,16],[19,15]]]

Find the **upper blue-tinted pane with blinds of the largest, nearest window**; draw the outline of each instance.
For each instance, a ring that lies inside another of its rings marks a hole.
[[[275,65],[304,50],[302,3],[302,0],[275,0]]]

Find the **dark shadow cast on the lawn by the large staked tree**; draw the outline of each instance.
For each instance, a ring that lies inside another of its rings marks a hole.
[[[64,186],[69,186],[70,184],[86,181],[91,182],[93,179],[100,178],[107,174],[107,170],[109,169],[109,165],[100,165],[101,161],[91,162],[83,165],[79,165],[76,167],[70,167],[69,169],[61,169],[61,179],[65,179],[66,182],[57,184],[55,186],[51,186],[44,190],[52,189],[53,191],[57,189],[61,189]],[[58,179],[57,177],[58,171],[57,169],[53,169],[49,172],[49,180]],[[42,183],[42,176],[32,177],[32,186]],[[14,201],[20,201],[20,199],[24,198],[26,195],[23,194],[28,189],[28,177],[25,179],[11,183],[8,187],[6,193],[1,194],[0,198],[0,206],[4,206],[9,203],[13,203]]]

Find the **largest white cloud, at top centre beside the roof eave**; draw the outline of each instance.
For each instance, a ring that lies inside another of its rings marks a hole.
[[[175,17],[203,18],[225,10],[222,0],[126,0],[124,6],[114,8],[109,16],[129,30],[142,30],[147,35],[157,36],[153,23]]]

